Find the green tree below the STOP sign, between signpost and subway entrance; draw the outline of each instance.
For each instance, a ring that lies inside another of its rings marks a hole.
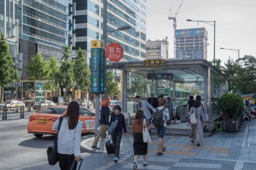
[[[113,99],[113,97],[117,96],[119,92],[119,83],[115,80],[113,71],[108,71],[106,75],[106,95]]]

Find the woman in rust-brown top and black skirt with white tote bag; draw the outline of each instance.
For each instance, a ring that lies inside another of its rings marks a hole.
[[[133,132],[134,132],[134,140],[133,140],[133,152],[134,152],[134,163],[133,169],[137,169],[137,160],[139,159],[139,155],[143,155],[143,167],[148,167],[147,159],[148,159],[148,143],[143,142],[143,111],[137,110],[135,114],[135,120],[133,122]],[[145,119],[146,120],[146,119]],[[146,126],[148,130],[150,129],[150,124],[148,124],[148,120],[146,120]]]

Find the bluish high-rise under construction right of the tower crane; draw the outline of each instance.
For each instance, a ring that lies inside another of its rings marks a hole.
[[[176,58],[207,59],[207,31],[205,28],[175,31]]]

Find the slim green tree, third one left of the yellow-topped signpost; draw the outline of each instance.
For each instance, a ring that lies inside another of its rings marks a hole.
[[[54,56],[51,56],[47,62],[47,68],[49,70],[49,77],[46,79],[46,89],[49,89],[52,91],[55,91],[57,89],[57,74],[59,72],[59,65],[58,60],[54,58]]]

